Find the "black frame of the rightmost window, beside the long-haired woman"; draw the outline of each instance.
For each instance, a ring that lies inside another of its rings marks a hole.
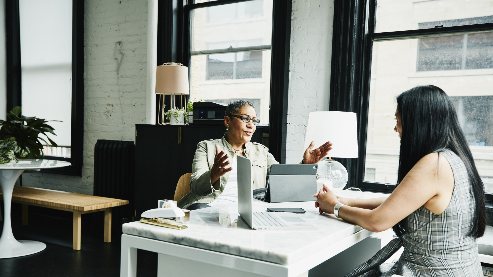
[[[376,11],[377,0],[334,1],[329,110],[357,114],[359,158],[336,158],[350,172],[346,187],[391,193],[396,185],[364,180],[373,42],[493,31],[493,23],[375,33]]]

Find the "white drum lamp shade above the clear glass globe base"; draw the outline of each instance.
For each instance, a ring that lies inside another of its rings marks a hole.
[[[308,117],[305,147],[315,140],[315,148],[330,140],[329,157],[357,158],[358,135],[356,113],[345,111],[311,111]]]

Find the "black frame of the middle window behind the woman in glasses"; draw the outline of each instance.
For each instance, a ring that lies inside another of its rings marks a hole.
[[[203,3],[193,3],[193,0],[158,0],[157,64],[179,62],[189,67],[192,9],[244,1],[248,0]],[[271,66],[269,126],[263,128],[264,132],[269,130],[269,152],[281,164],[286,162],[291,6],[291,0],[273,0],[271,65],[276,66]],[[171,106],[170,101],[170,97],[165,97],[167,107]],[[160,121],[159,114],[159,96],[156,96],[156,124]]]

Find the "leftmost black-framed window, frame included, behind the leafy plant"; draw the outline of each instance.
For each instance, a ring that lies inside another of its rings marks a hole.
[[[81,175],[84,116],[84,1],[7,0],[7,110],[22,107],[54,127],[58,147],[44,158],[71,166],[46,173]],[[41,135],[42,136],[42,135]]]

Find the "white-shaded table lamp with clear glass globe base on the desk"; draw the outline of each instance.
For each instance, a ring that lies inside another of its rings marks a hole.
[[[342,190],[348,182],[348,171],[332,158],[358,157],[356,113],[311,111],[303,149],[308,148],[313,140],[315,140],[314,149],[327,141],[333,143],[333,149],[329,152],[330,157],[318,163],[317,183],[325,183],[327,187],[332,187],[334,192]]]

